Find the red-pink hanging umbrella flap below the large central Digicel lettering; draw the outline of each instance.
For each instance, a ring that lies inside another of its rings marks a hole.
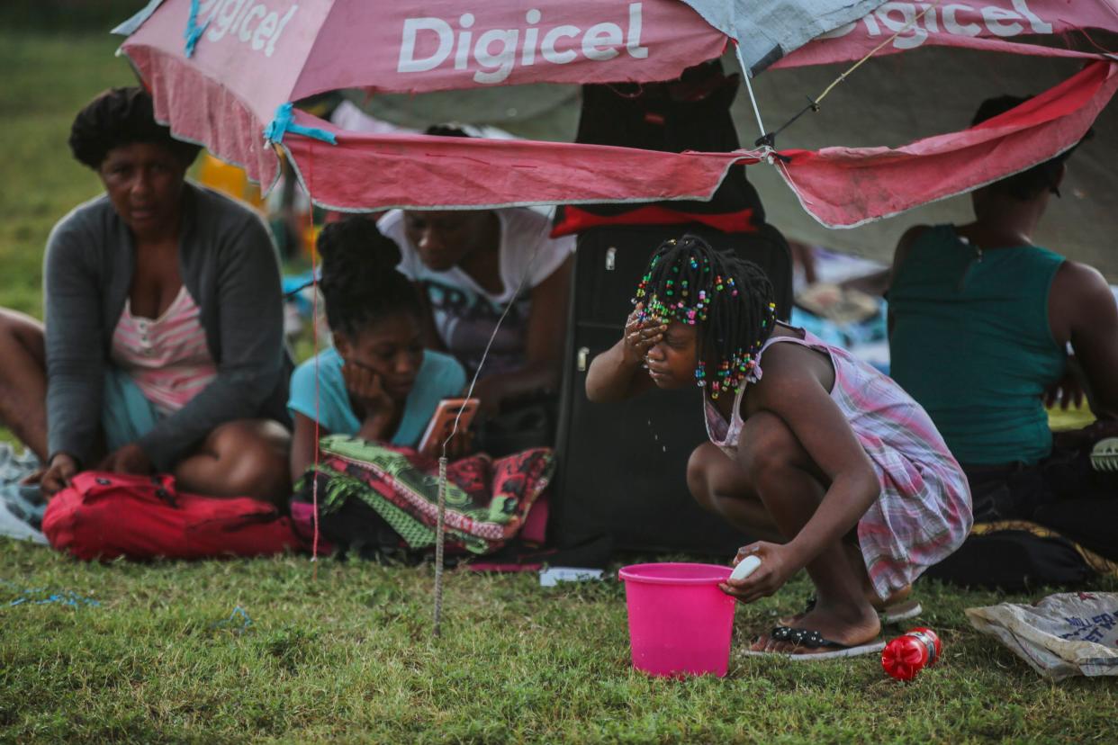
[[[338,132],[305,114],[299,121]],[[285,141],[307,192],[338,210],[703,200],[736,162],[757,162],[743,152],[662,153],[529,140],[338,132],[338,143]]]

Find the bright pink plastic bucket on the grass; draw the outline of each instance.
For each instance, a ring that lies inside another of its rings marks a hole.
[[[736,601],[717,564],[633,564],[625,581],[633,667],[654,676],[726,675]]]

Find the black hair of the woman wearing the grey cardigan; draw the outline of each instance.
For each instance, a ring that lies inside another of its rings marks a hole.
[[[97,95],[74,117],[69,146],[79,163],[96,171],[108,151],[135,142],[163,145],[186,165],[190,165],[200,145],[171,136],[171,131],[155,121],[151,95],[139,86],[110,88]]]

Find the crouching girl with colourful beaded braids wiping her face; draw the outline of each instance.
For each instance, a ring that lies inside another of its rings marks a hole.
[[[710,442],[688,464],[692,496],[764,538],[733,562],[760,565],[723,592],[749,603],[800,569],[815,585],[750,653],[880,650],[875,606],[896,606],[970,528],[966,478],[931,420],[873,367],[777,322],[761,270],[701,238],[662,245],[633,302],[623,338],[590,364],[588,398],[697,382]]]

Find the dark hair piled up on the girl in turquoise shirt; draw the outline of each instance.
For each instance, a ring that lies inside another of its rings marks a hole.
[[[326,225],[319,233],[326,321],[353,338],[370,324],[398,313],[423,315],[419,294],[397,271],[400,249],[362,216]]]

